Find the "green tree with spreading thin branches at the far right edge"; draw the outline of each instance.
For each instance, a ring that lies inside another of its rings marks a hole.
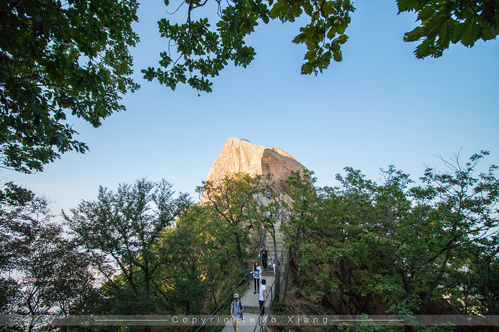
[[[417,266],[422,271],[430,268],[430,264],[435,264],[438,268],[436,277],[430,277],[423,282],[428,288],[422,298],[423,305],[434,292],[440,291],[440,284],[446,278],[449,266],[457,266],[455,268],[462,270],[479,268],[474,264],[459,264],[460,257],[469,257],[471,254],[471,262],[480,262],[480,267],[484,268],[484,275],[479,281],[482,288],[479,297],[487,299],[487,302],[482,306],[486,309],[482,313],[497,310],[499,299],[496,293],[493,295],[494,292],[490,288],[493,279],[489,279],[489,272],[494,261],[497,261],[499,252],[499,181],[496,178],[498,167],[491,165],[487,172],[475,175],[478,163],[488,154],[487,151],[481,151],[480,154],[471,156],[466,163],[459,160],[459,154],[451,162],[443,160],[448,172],[428,168],[421,178],[424,185],[412,189],[417,200],[417,212],[423,216],[419,218],[419,222],[423,219],[426,225],[429,223],[432,230],[439,230],[437,237],[432,241],[428,239],[432,255]],[[432,208],[432,211],[428,207]],[[412,271],[409,270],[408,273]],[[464,289],[462,285],[461,290]],[[492,300],[492,297],[495,298]]]

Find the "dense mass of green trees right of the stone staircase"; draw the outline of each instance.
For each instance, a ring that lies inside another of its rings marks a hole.
[[[347,315],[375,313],[372,301],[378,314],[497,312],[497,167],[477,174],[487,154],[444,160],[448,170],[426,169],[421,185],[394,167],[379,184],[347,168],[302,205],[303,220],[293,212],[290,226],[310,233],[299,246],[308,290]]]

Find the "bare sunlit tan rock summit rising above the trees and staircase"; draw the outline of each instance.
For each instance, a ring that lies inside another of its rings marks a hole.
[[[268,149],[238,138],[229,138],[213,163],[207,181],[218,183],[227,175],[248,173],[263,176],[272,190],[283,192],[291,172],[305,168],[281,148]]]

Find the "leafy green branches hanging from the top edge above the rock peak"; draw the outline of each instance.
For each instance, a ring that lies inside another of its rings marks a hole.
[[[198,91],[211,92],[209,77],[218,76],[229,62],[244,68],[252,62],[255,50],[247,46],[244,39],[254,33],[261,21],[265,24],[270,19],[292,22],[301,15],[310,17],[310,23],[300,28],[299,35],[293,39],[294,43],[307,47],[301,73],[317,75],[329,66],[331,59],[342,60],[341,45],[348,39],[344,32],[355,10],[349,0],[279,0],[275,3],[274,0],[241,0],[227,1],[227,5],[216,1],[220,20],[212,27],[207,18],[193,19],[196,10],[207,2],[183,1],[180,6],[187,6],[184,24],[172,24],[167,19],[158,21],[161,37],[169,40],[168,50],[161,52],[160,68],[142,70],[144,78],[157,78],[173,90],[178,83],[187,83]],[[165,3],[168,6],[169,2]]]

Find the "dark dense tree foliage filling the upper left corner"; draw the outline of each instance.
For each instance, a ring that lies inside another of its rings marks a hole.
[[[30,173],[69,150],[70,116],[94,127],[134,91],[129,46],[139,38],[135,0],[0,3],[0,162]]]

